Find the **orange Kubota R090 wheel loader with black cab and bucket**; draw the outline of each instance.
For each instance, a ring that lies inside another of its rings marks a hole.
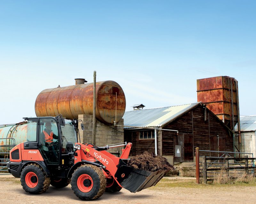
[[[61,188],[70,183],[79,199],[93,200],[104,192],[115,193],[122,188],[133,193],[141,191],[156,185],[166,173],[128,166],[131,142],[98,147],[79,143],[77,137],[75,142],[67,141],[61,115],[24,119],[28,123],[28,141],[10,151],[7,167],[20,178],[25,192],[40,194],[50,184]],[[115,147],[125,147],[120,157],[107,151]]]

